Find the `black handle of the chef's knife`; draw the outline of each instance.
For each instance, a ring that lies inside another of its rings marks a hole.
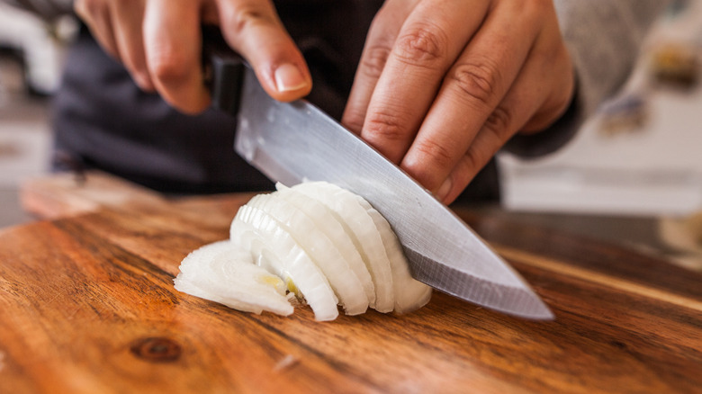
[[[216,26],[202,26],[202,70],[212,106],[237,116],[244,77],[244,58],[229,48]]]

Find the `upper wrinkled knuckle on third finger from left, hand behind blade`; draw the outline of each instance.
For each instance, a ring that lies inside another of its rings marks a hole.
[[[457,65],[448,76],[462,94],[490,104],[500,87],[500,68],[487,60]]]

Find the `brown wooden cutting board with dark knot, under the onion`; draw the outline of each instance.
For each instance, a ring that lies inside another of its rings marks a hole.
[[[173,288],[250,194],[57,179],[23,199],[68,216],[0,232],[2,393],[702,392],[702,275],[664,261],[457,209],[554,321],[439,292],[405,316],[253,315]]]

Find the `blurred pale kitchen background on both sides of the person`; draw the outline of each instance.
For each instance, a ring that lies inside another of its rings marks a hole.
[[[500,155],[502,201],[476,210],[702,271],[702,1],[680,4],[569,145],[536,160]],[[33,219],[18,191],[49,172],[50,96],[75,31],[0,4],[0,231]]]

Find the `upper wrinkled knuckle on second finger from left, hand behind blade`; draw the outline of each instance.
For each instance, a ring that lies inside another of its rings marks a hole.
[[[443,29],[431,24],[418,23],[398,37],[395,54],[412,64],[428,65],[446,58],[448,41]]]

